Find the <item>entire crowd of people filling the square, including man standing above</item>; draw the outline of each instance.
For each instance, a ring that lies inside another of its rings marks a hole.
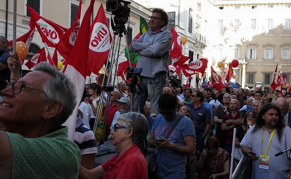
[[[101,85],[90,83],[80,104],[70,79],[48,63],[21,77],[21,60],[1,36],[0,70],[8,70],[9,79],[0,106],[5,127],[0,131],[0,177],[225,179],[230,156],[240,160],[246,155],[252,160],[253,179],[287,178],[290,152],[275,154],[291,146],[291,93],[275,91],[276,97],[268,98],[262,90],[231,86],[221,91],[211,86],[164,87],[172,42],[167,24],[166,12],[155,8],[149,31],[132,41],[140,55],[137,67],[143,68],[143,93],[130,99],[128,84],[121,82],[103,96]],[[72,142],[62,123],[76,105]],[[96,119],[106,125],[105,131],[92,131]],[[103,135],[117,154],[95,167]]]

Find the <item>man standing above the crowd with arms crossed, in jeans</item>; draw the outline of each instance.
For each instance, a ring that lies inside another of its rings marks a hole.
[[[149,97],[151,100],[151,117],[159,114],[158,99],[162,94],[167,72],[167,62],[172,44],[172,34],[166,30],[167,13],[155,8],[150,16],[148,32],[139,39],[132,40],[133,52],[139,53],[138,68],[142,68],[139,83],[144,93],[136,95],[134,110],[144,114],[143,107]]]

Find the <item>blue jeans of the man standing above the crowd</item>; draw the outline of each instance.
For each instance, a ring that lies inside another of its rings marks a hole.
[[[159,98],[162,95],[163,88],[166,82],[165,74],[159,73],[155,78],[148,78],[145,76],[140,76],[139,85],[144,91],[141,94],[135,94],[134,107],[135,112],[140,112],[144,114],[143,107],[146,104],[146,100],[150,99],[151,103],[151,117],[155,117],[159,114]]]

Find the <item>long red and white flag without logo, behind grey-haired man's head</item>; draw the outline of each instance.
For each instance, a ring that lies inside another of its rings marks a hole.
[[[64,123],[65,126],[68,126],[68,134],[69,139],[74,139],[75,127],[76,127],[76,119],[78,113],[78,107],[84,92],[85,87],[85,77],[87,71],[87,58],[88,58],[88,46],[90,42],[90,23],[91,23],[91,14],[95,0],[91,0],[90,5],[84,15],[82,20],[82,24],[75,42],[73,46],[72,52],[68,59],[66,59],[65,63],[66,70],[65,74],[72,80],[75,84],[77,91],[77,105],[72,113],[72,115],[68,118],[68,120]]]

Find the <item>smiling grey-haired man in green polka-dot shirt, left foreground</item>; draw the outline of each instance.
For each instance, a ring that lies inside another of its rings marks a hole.
[[[74,84],[47,62],[19,78],[21,61],[9,56],[10,82],[0,105],[8,131],[0,131],[0,178],[78,178],[80,149],[61,126],[76,106]]]

